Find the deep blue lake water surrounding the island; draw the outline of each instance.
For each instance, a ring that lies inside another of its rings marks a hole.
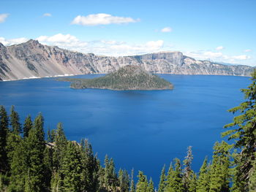
[[[96,77],[83,75],[80,77]],[[21,120],[38,112],[45,129],[64,123],[68,139],[88,138],[103,162],[114,158],[116,169],[143,170],[158,185],[163,164],[183,159],[192,145],[193,168],[211,157],[214,142],[243,101],[240,88],[249,77],[161,75],[173,91],[74,90],[54,78],[0,82],[0,104],[15,105]],[[117,170],[118,171],[118,170]]]

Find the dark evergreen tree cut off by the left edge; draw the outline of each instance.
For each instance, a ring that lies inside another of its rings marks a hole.
[[[3,106],[0,106],[0,173],[5,174],[8,171],[7,163],[7,133],[9,119],[7,111]]]

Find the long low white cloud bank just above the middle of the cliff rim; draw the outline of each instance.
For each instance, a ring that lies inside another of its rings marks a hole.
[[[148,41],[141,44],[129,44],[114,40],[97,40],[84,42],[70,34],[56,34],[53,36],[40,36],[37,40],[45,45],[56,45],[68,50],[82,53],[95,53],[98,55],[136,55],[153,53],[162,50],[164,41]]]

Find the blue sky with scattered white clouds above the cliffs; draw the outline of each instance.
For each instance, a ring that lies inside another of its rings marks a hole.
[[[1,0],[0,42],[97,55],[181,51],[256,66],[255,0]]]

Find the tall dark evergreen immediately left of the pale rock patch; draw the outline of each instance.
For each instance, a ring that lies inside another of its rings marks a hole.
[[[44,183],[45,166],[44,151],[45,140],[43,130],[44,120],[39,114],[34,120],[34,128],[29,131],[27,138],[28,146],[28,170],[26,174],[26,192],[45,191],[46,183]]]

